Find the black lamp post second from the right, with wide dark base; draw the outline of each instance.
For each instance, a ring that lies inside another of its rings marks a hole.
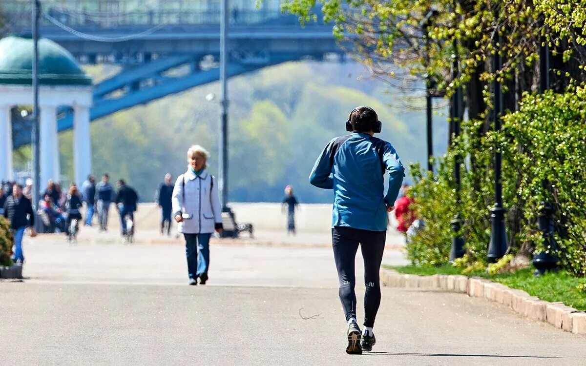
[[[495,26],[498,27],[498,16],[495,15]],[[493,93],[495,93],[493,111],[493,121],[495,123],[495,132],[500,131],[500,117],[503,114],[503,94],[500,90],[500,81],[496,77],[496,73],[502,67],[502,59],[499,53],[500,34],[498,29],[495,32],[495,39],[493,40],[495,54],[492,57],[492,71],[495,73],[495,81],[493,83]],[[490,210],[490,220],[492,220],[492,232],[490,233],[490,244],[488,247],[488,260],[496,262],[507,251],[509,244],[507,243],[507,233],[505,227],[505,208],[503,208],[503,183],[501,173],[502,157],[499,146],[495,146],[495,206]]]

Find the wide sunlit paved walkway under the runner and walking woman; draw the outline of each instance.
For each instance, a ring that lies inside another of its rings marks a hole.
[[[586,364],[586,337],[482,299],[387,288],[375,352],[346,355],[327,248],[216,244],[209,285],[187,286],[180,244],[25,245],[29,279],[0,283],[1,365]]]

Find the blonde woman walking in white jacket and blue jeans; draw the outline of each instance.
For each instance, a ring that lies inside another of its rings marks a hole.
[[[189,285],[208,279],[209,242],[212,232],[222,232],[222,207],[216,180],[206,170],[209,153],[199,145],[187,152],[188,170],[173,187],[172,209],[178,230],[185,237]]]

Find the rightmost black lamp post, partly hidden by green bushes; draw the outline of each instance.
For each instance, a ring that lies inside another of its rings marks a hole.
[[[541,48],[539,50],[539,67],[540,67],[540,83],[539,92],[545,93],[549,88],[549,45],[546,37],[541,37]],[[541,182],[544,191],[547,194],[547,180]],[[534,275],[543,275],[546,271],[555,271],[557,269],[557,263],[560,258],[556,255],[557,244],[553,237],[554,232],[554,221],[553,213],[555,208],[550,201],[543,202],[543,209],[537,219],[537,227],[543,235],[543,247],[545,251],[538,252],[533,255],[533,266],[535,266]],[[548,250],[547,250],[548,249]]]

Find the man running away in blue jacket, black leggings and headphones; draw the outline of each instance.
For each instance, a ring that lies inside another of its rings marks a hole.
[[[371,351],[376,342],[374,318],[380,306],[379,269],[387,232],[387,213],[403,183],[404,167],[393,146],[374,137],[381,122],[369,107],[358,107],[346,121],[352,134],[333,139],[315,162],[309,182],[333,189],[332,247],[338,278],[339,296],[346,314],[346,353]],[[389,172],[389,189],[384,194],[383,176]],[[364,258],[364,330],[356,320],[354,287],[355,257],[358,246]]]

